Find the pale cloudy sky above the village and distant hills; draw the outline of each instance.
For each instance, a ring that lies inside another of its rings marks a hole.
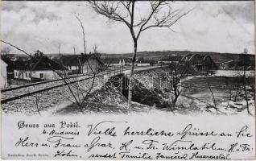
[[[147,10],[146,3],[135,9]],[[143,6],[144,7],[143,7]],[[190,50],[197,52],[254,53],[254,2],[173,2],[174,9],[192,12],[171,29],[152,28],[142,33],[138,51]],[[86,2],[2,2],[2,39],[27,52],[83,51],[79,14],[85,26],[87,52],[133,51],[129,30],[122,23],[107,23]],[[175,32],[174,32],[175,31]],[[4,47],[4,45],[2,45]],[[12,52],[17,52],[14,49]]]

